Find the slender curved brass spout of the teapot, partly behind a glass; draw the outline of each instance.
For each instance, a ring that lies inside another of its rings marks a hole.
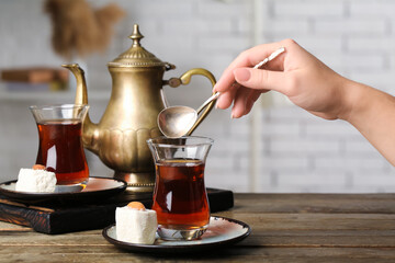
[[[78,64],[65,64],[61,67],[69,69],[76,77],[77,90],[76,90],[76,104],[88,104],[88,91],[87,82],[84,79],[83,69]],[[83,147],[88,150],[99,153],[99,129],[98,125],[93,124],[89,117],[89,112],[82,123],[82,142]]]

